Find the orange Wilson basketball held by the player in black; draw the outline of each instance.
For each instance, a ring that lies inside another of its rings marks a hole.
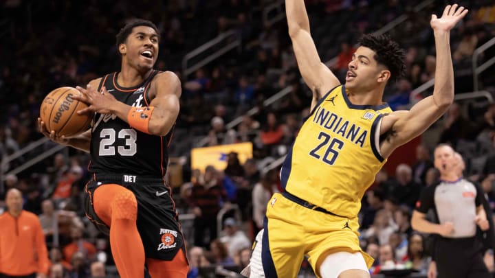
[[[84,102],[72,98],[73,95],[79,94],[80,92],[72,87],[61,87],[48,93],[41,103],[40,116],[49,132],[54,130],[58,136],[70,137],[89,128],[93,115],[76,113],[87,107]]]

